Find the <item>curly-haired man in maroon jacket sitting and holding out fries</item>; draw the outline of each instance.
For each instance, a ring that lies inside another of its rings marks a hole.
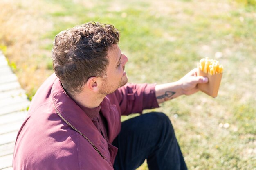
[[[147,113],[182,94],[198,91],[207,78],[192,70],[162,85],[127,83],[119,33],[90,22],[55,37],[53,69],[36,92],[16,139],[14,170],[186,169],[170,120]]]

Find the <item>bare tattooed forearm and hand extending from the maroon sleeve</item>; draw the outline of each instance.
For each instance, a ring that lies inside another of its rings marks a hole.
[[[191,95],[198,92],[198,83],[207,83],[208,78],[197,76],[197,69],[191,70],[179,81],[155,86],[155,95],[158,103],[171,100],[183,94]]]

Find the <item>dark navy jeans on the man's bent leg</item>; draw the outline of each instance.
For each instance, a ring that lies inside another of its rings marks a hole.
[[[170,119],[146,113],[122,122],[112,143],[118,148],[115,170],[135,170],[147,159],[149,170],[186,170]]]

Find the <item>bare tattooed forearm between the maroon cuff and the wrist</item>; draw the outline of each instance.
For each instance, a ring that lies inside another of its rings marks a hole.
[[[155,86],[155,95],[158,103],[171,100],[182,95],[182,88],[179,82],[166,83]]]

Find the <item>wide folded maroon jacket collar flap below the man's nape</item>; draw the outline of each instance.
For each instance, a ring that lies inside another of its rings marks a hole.
[[[95,150],[106,159],[106,140],[94,126],[90,118],[83,110],[67,95],[61,82],[57,78],[52,86],[52,102],[58,115],[74,130],[85,137],[92,144]]]

